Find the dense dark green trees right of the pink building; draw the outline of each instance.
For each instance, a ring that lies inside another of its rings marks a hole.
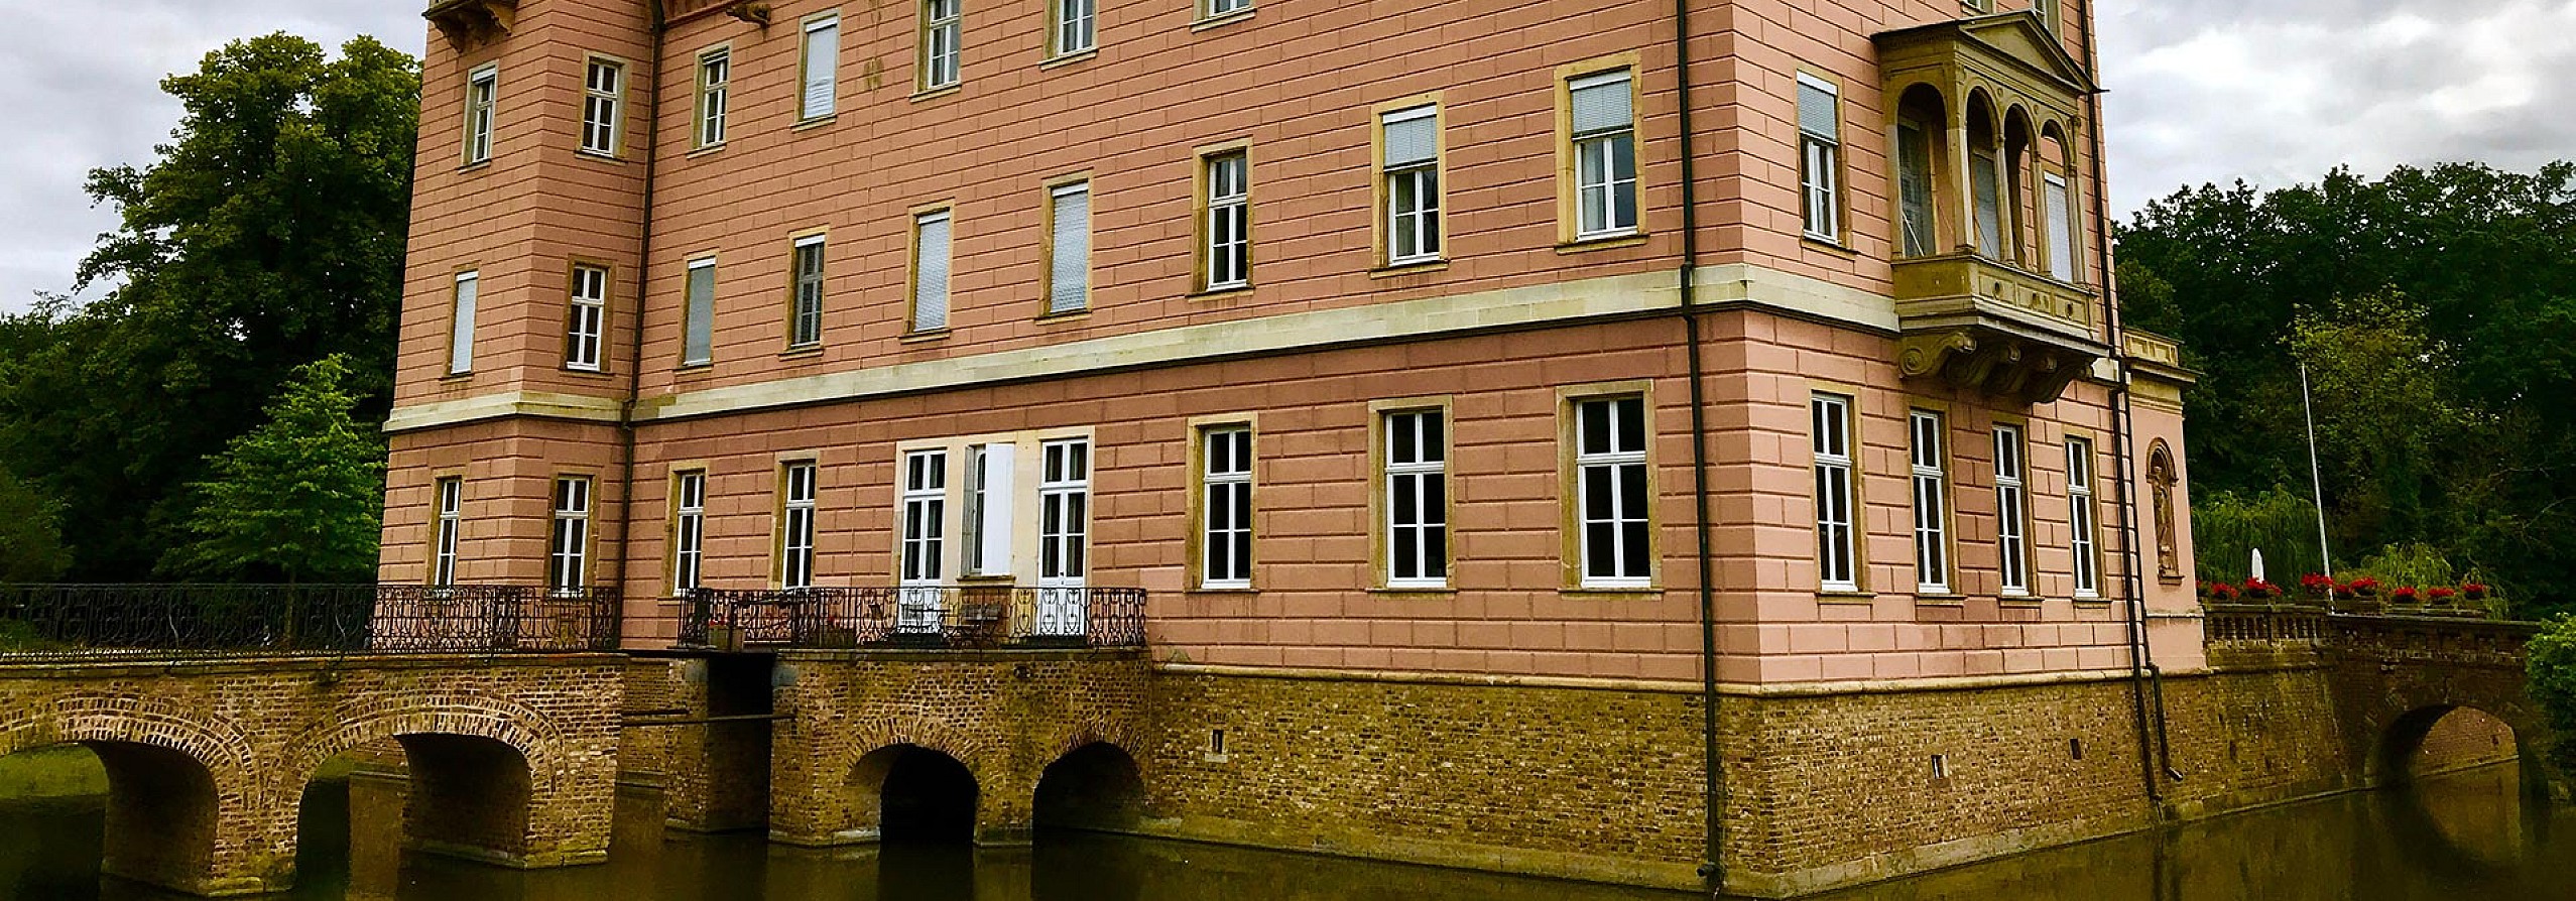
[[[2117,239],[2128,322],[2205,373],[2195,520],[2306,502],[2308,363],[2339,569],[2447,569],[2522,613],[2576,608],[2576,165],[2202,185]],[[2290,543],[2313,548],[2313,520],[2272,538]],[[2236,548],[2205,551],[2205,574],[2244,577]]]

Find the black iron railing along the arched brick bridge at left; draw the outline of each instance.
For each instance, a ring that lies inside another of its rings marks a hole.
[[[618,592],[526,584],[0,584],[0,654],[569,654]]]

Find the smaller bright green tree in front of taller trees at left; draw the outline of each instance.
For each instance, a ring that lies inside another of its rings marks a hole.
[[[185,515],[191,543],[162,571],[224,579],[368,582],[384,505],[384,443],[358,422],[340,355],[296,368],[268,422],[209,458]]]

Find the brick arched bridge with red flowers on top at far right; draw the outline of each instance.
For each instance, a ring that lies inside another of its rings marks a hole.
[[[2555,734],[2524,690],[2524,644],[2540,623],[2437,610],[2210,605],[2205,628],[2210,664],[2326,667],[2344,772],[2360,788],[2409,783],[2432,726],[2450,711],[2473,708],[2514,731],[2527,793],[2576,801],[2576,780],[2548,762]]]

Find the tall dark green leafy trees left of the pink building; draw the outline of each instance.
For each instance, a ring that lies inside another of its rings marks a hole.
[[[0,322],[0,471],[26,487],[0,520],[59,510],[72,579],[144,579],[185,546],[206,499],[188,487],[299,366],[345,358],[361,422],[392,394],[417,62],[270,33],[162,90],[185,118],[157,160],[88,180],[121,227],[77,283],[113,291]]]

